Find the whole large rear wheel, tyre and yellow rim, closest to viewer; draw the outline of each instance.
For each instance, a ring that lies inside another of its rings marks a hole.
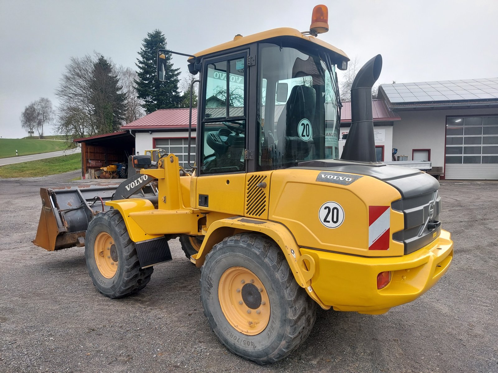
[[[297,284],[277,245],[265,236],[225,238],[201,269],[209,325],[233,353],[257,364],[276,362],[306,340],[316,303]]]

